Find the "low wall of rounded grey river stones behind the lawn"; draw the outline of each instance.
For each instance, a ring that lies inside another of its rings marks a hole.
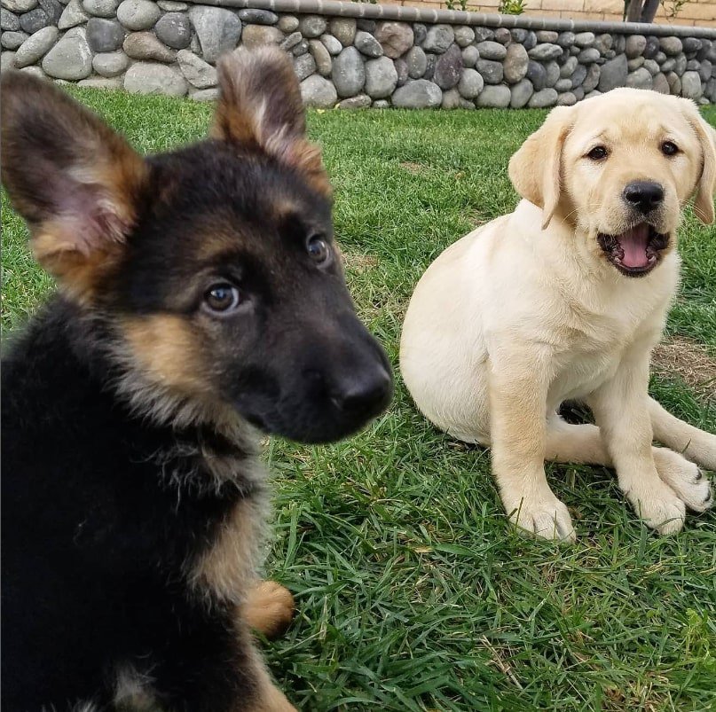
[[[548,107],[618,86],[716,103],[710,28],[333,0],[214,2],[2,0],[3,67],[207,100],[221,52],[276,43],[292,55],[310,106]]]

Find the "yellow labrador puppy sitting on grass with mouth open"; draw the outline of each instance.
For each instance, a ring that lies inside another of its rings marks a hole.
[[[445,250],[415,289],[405,383],[435,425],[492,447],[519,527],[574,538],[547,459],[613,466],[647,524],[678,531],[686,507],[712,505],[694,463],[716,469],[716,435],[649,397],[649,354],[679,284],[681,207],[696,193],[714,219],[714,132],[687,99],[613,90],[555,108],[509,176],[515,212]],[[596,426],[560,419],[567,399]]]

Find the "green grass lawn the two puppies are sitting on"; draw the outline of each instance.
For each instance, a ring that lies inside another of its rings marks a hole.
[[[75,91],[144,151],[201,137],[188,101]],[[706,114],[716,123],[716,112]],[[507,159],[545,113],[311,113],[335,186],[336,233],[361,316],[397,364],[400,324],[429,262],[516,196]],[[4,203],[3,325],[51,283]],[[716,234],[689,214],[670,333],[716,353]],[[653,390],[716,431],[714,403]],[[509,527],[484,450],[438,433],[399,376],[388,413],[329,447],[272,441],[269,574],[295,592],[271,669],[304,710],[705,710],[716,707],[716,517],[644,528],[598,467],[551,466],[578,543]]]

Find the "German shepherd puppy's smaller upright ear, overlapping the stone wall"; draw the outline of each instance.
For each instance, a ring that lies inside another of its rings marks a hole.
[[[306,140],[301,90],[286,52],[240,49],[216,63],[220,98],[211,137],[254,147],[301,173],[329,196],[320,149]]]

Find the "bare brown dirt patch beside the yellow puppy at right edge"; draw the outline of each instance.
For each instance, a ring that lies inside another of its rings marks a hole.
[[[678,376],[697,395],[712,395],[716,390],[716,358],[701,344],[683,336],[666,339],[651,354],[654,371]]]

